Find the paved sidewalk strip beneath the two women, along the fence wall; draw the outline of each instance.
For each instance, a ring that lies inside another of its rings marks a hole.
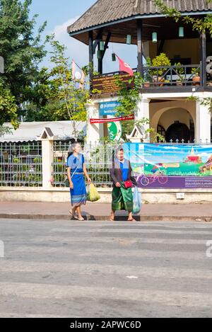
[[[69,220],[69,203],[0,202],[0,218],[8,219],[64,219]],[[108,220],[111,205],[88,203],[82,207],[83,216],[91,220]],[[126,220],[126,212],[117,212],[117,220]],[[212,205],[206,204],[146,204],[136,220],[212,222]]]

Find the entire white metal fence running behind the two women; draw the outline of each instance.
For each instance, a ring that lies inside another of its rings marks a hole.
[[[211,144],[211,142],[187,142],[171,140],[157,144]],[[52,163],[52,187],[69,186],[66,181],[66,160],[71,142],[54,142]],[[111,187],[110,163],[117,145],[82,145],[86,168],[97,187]],[[41,187],[42,186],[42,144],[0,143],[0,186]]]

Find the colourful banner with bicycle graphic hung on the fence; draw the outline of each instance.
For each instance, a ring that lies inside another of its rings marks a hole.
[[[212,145],[124,144],[140,188],[212,188]]]

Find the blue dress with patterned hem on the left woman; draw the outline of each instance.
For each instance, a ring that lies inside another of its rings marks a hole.
[[[86,205],[87,193],[83,176],[84,163],[85,158],[83,154],[78,154],[78,156],[71,154],[67,159],[67,167],[71,168],[71,181],[73,182],[73,189],[70,188],[72,207]]]

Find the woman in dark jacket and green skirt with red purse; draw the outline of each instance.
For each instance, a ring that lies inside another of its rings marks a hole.
[[[137,185],[133,176],[130,161],[124,159],[124,149],[117,149],[114,161],[110,168],[110,175],[113,181],[112,190],[112,212],[110,221],[114,221],[114,214],[117,210],[126,210],[129,213],[128,221],[134,222],[132,216],[133,211],[133,195],[131,187]]]

